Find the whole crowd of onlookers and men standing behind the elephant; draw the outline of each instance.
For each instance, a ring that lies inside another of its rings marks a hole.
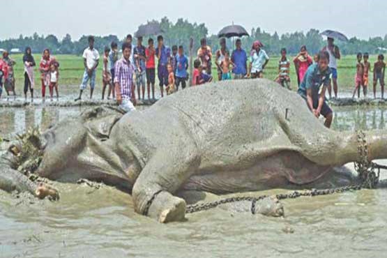
[[[94,37],[89,36],[89,46],[83,52],[84,74],[82,83],[79,86],[79,96],[75,101],[82,99],[82,94],[87,85],[90,86],[90,98],[93,97],[93,90],[96,86],[96,69],[99,65],[100,54],[94,48]],[[305,45],[301,47],[300,52],[294,57],[293,63],[296,68],[298,93],[308,104],[308,107],[315,116],[325,116],[326,126],[331,126],[332,110],[325,101],[326,90],[331,98],[331,89],[333,84],[333,93],[337,98],[337,60],[341,58],[340,50],[334,44],[333,38],[328,38],[328,44],[319,54],[313,58],[308,54]],[[256,40],[249,53],[243,50],[241,40],[237,39],[235,49],[229,52],[225,38],[220,39],[220,49],[217,50],[215,58],[211,47],[207,44],[206,38],[200,40],[200,47],[197,50],[197,56],[193,61],[192,75],[188,73],[190,66],[189,59],[184,54],[183,46],[172,46],[169,48],[164,44],[162,36],[157,37],[157,42],[149,38],[148,45],[143,45],[143,38],[137,37],[137,45],[132,45],[132,35],[126,36],[123,43],[120,57],[117,43],[112,42],[110,47],[105,47],[103,52],[103,89],[102,98],[116,98],[119,105],[126,111],[135,109],[138,100],[147,100],[151,103],[155,101],[155,76],[156,59],[157,77],[160,87],[160,95],[165,93],[172,94],[181,89],[185,89],[190,79],[192,86],[205,84],[213,80],[212,68],[213,61],[218,71],[218,80],[228,79],[247,79],[262,78],[264,70],[269,61],[269,56],[263,49],[264,45]],[[290,66],[291,62],[287,59],[287,50],[283,48],[280,52],[281,57],[278,62],[278,77],[275,81],[287,89],[291,89]],[[371,63],[368,61],[369,55],[358,54],[358,63],[356,64],[355,90],[353,98],[358,92],[360,98],[360,89],[363,87],[364,96],[367,95],[367,86],[369,82],[369,73]],[[27,97],[28,91],[33,98],[34,75],[33,69],[36,62],[31,54],[31,48],[26,47],[24,56],[24,96]],[[3,59],[0,59],[0,96],[4,86],[6,93],[11,92],[15,95],[15,75],[13,72],[15,61],[10,59],[8,52],[3,52]],[[386,63],[384,56],[380,54],[378,60],[374,63],[373,69],[373,90],[376,98],[377,83],[381,85],[381,97],[384,98],[384,75]],[[59,62],[50,55],[50,50],[44,50],[39,64],[42,98],[45,99],[45,89],[48,86],[50,98],[53,98],[53,91],[56,91],[56,98],[59,98]],[[192,78],[189,78],[189,77]],[[321,87],[322,86],[322,87]],[[137,98],[135,89],[137,88]]]

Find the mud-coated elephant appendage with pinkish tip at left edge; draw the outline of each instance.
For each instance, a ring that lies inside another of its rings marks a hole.
[[[36,183],[24,174],[1,164],[0,169],[0,189],[6,192],[30,192],[32,195],[43,199],[51,197],[52,199],[59,199],[59,193],[54,188],[44,183]]]

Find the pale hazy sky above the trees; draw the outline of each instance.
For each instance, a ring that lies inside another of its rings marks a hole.
[[[114,34],[123,38],[139,24],[167,16],[205,23],[208,32],[240,24],[250,31],[261,27],[279,34],[335,29],[349,36],[367,39],[387,33],[385,0],[0,0],[0,40],[54,34],[73,39],[82,35]],[[26,4],[28,3],[28,4]]]

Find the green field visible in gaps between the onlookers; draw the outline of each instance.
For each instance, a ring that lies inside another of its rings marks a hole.
[[[15,78],[16,78],[16,88],[17,92],[22,91],[23,87],[23,65],[22,65],[22,54],[15,54],[11,56],[17,63],[15,66]],[[40,61],[40,55],[34,54],[36,63],[38,65]],[[60,79],[59,86],[74,86],[75,91],[77,91],[77,85],[80,84],[82,75],[84,72],[82,56],[75,55],[56,55],[56,59],[61,63],[60,66]],[[292,59],[293,56],[288,56],[289,59]],[[280,56],[271,56],[271,60],[266,67],[264,77],[268,79],[275,79],[278,75],[278,60]],[[370,56],[370,62],[374,63],[377,60],[377,56]],[[102,63],[98,66],[97,73],[97,86],[102,85]],[[217,79],[217,71],[215,66],[213,66],[213,77]],[[339,73],[339,87],[344,91],[349,91],[354,87],[354,75],[356,73],[356,56],[343,56],[342,60],[338,62],[338,73]],[[38,67],[36,68],[36,89],[40,89],[40,74],[38,72]],[[372,77],[371,77],[372,78]],[[296,73],[294,70],[293,63],[291,63],[291,83],[292,88],[296,89]],[[72,87],[73,88],[73,87]]]

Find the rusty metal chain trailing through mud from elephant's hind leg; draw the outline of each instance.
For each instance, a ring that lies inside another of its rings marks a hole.
[[[340,188],[329,188],[324,190],[305,190],[305,191],[294,191],[287,194],[275,195],[278,200],[282,199],[296,199],[298,197],[314,197],[321,195],[333,195],[335,193],[349,192],[361,190],[363,188],[375,188],[377,183],[379,183],[380,169],[387,169],[387,166],[381,166],[377,163],[370,162],[368,160],[368,146],[365,139],[365,133],[362,131],[357,132],[358,139],[358,154],[359,160],[355,162],[355,169],[358,172],[358,179],[361,183],[356,185],[347,185]],[[377,173],[375,172],[377,169]],[[215,202],[208,202],[204,204],[193,204],[187,206],[186,213],[195,213],[198,211],[206,211],[211,208],[215,208],[220,204],[229,204],[232,202],[242,202],[248,201],[252,202],[251,204],[251,213],[255,214],[255,206],[257,201],[268,197],[268,195],[261,195],[259,197],[232,197],[227,199],[220,199]]]

